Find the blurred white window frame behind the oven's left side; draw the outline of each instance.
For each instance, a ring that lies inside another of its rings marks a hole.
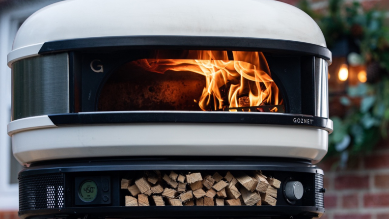
[[[11,69],[7,66],[7,54],[12,49],[18,24],[40,8],[57,1],[19,2],[0,10],[0,211],[17,211],[19,208],[18,184],[9,183],[11,139],[7,135],[7,124],[11,118]]]

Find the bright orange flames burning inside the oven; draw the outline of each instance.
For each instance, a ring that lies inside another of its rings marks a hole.
[[[199,100],[202,110],[280,105],[279,90],[265,56],[260,52],[188,51],[182,59],[139,59],[136,65],[149,72],[190,71],[203,75],[206,86]],[[170,56],[171,57],[171,56]],[[237,111],[229,109],[229,111]],[[244,109],[251,111],[251,109]],[[255,111],[263,111],[261,108]],[[278,111],[276,107],[270,109]]]

